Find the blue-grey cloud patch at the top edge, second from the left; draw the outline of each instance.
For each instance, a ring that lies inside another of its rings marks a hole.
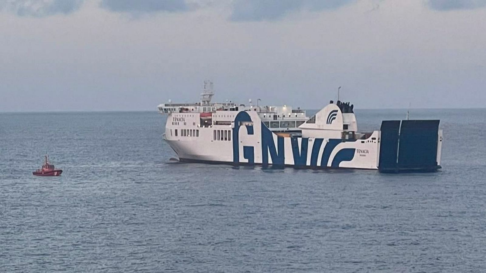
[[[187,11],[184,0],[102,0],[101,6],[113,12],[131,14]]]

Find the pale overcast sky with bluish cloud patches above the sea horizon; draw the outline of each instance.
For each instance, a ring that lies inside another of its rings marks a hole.
[[[0,111],[486,107],[486,0],[0,0]]]

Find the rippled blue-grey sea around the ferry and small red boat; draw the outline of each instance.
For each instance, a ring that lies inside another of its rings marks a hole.
[[[156,111],[0,113],[0,272],[486,272],[486,109],[410,116],[440,171],[179,163]]]

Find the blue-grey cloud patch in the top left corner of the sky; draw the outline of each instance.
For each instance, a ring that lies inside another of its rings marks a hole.
[[[25,17],[46,17],[56,14],[70,14],[77,11],[83,0],[3,0],[0,10],[6,10]]]

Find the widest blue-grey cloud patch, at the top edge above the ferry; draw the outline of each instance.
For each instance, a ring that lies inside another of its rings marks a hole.
[[[355,0],[235,0],[233,21],[278,20],[301,10],[336,9]]]

